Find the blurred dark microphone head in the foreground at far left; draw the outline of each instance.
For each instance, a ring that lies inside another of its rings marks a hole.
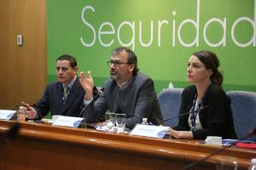
[[[15,141],[17,139],[18,134],[20,132],[20,123],[15,122],[11,127],[9,127],[9,130],[5,133],[3,144],[1,144],[0,150],[3,149],[5,144],[9,144],[10,142]]]

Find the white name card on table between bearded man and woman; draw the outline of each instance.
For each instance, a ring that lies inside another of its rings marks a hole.
[[[162,139],[166,135],[169,128],[170,127],[137,124],[136,127],[132,129],[130,134]]]

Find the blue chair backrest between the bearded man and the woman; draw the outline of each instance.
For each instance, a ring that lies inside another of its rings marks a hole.
[[[158,95],[161,114],[163,119],[167,119],[172,116],[177,116],[183,88],[166,88]],[[165,126],[175,127],[177,125],[178,118],[164,122]]]

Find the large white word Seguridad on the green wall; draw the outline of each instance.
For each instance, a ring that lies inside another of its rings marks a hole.
[[[84,26],[87,26],[90,29],[90,32],[86,32],[86,34],[91,33],[90,37],[92,37],[92,40],[88,40],[89,36],[86,35],[83,37],[80,37],[80,42],[83,44],[84,47],[89,48],[92,47],[95,43],[96,43],[96,37],[98,37],[98,41],[100,42],[100,44],[103,47],[110,47],[111,45],[113,45],[114,41],[118,41],[120,45],[122,46],[127,46],[127,47],[131,47],[132,49],[135,49],[135,45],[136,43],[139,43],[141,46],[143,47],[150,47],[153,42],[154,42],[154,33],[156,33],[156,41],[157,41],[157,46],[160,47],[161,46],[161,37],[162,37],[162,30],[163,29],[169,29],[169,27],[172,27],[172,47],[176,47],[177,42],[179,42],[183,47],[198,47],[199,43],[200,43],[200,31],[202,31],[202,37],[204,42],[207,44],[207,46],[209,47],[226,47],[226,41],[227,41],[227,36],[230,35],[231,40],[234,44],[236,44],[237,47],[240,48],[246,48],[249,46],[256,46],[256,14],[254,11],[254,16],[255,18],[252,20],[251,18],[247,17],[247,16],[241,16],[239,18],[237,18],[233,23],[231,23],[231,30],[230,30],[230,34],[227,33],[227,18],[223,18],[220,19],[218,17],[213,17],[210,20],[207,20],[205,23],[201,23],[200,20],[200,5],[201,2],[200,0],[197,0],[196,3],[196,19],[186,19],[186,20],[182,20],[179,24],[177,24],[177,20],[175,20],[175,16],[177,15],[177,11],[172,11],[172,16],[173,16],[173,20],[172,25],[170,24],[171,22],[169,20],[150,20],[150,35],[143,35],[143,21],[123,21],[119,24],[119,26],[115,27],[113,26],[113,24],[111,22],[108,21],[103,21],[102,24],[96,29],[96,26],[92,26],[92,24],[90,24],[88,22],[87,17],[86,17],[86,13],[88,10],[91,10],[92,12],[96,12],[96,9],[93,8],[92,6],[88,5],[85,6],[82,10],[82,21],[84,23]],[[256,4],[254,4],[256,5]],[[255,8],[254,8],[255,9]],[[247,24],[249,24],[250,26],[252,26],[253,28],[253,33],[251,35],[250,40],[248,40],[247,42],[241,42],[241,40],[239,40],[239,38],[236,37],[236,27],[239,26],[242,22],[247,22]],[[230,22],[229,22],[230,23]],[[221,27],[222,32],[219,32],[220,35],[222,35],[220,37],[220,39],[218,40],[218,42],[211,42],[211,40],[209,39],[208,35],[207,35],[207,29],[209,28],[209,26],[211,26],[212,24],[218,25]],[[138,26],[137,26],[138,25]],[[182,35],[182,30],[183,27],[186,25],[190,25],[193,26],[195,29],[195,36],[192,42],[185,42],[183,39],[183,35]],[[122,39],[122,30],[126,27],[129,28],[131,30],[131,35],[129,35],[131,37],[130,41],[128,42],[124,42],[124,40]],[[156,27],[156,28],[155,28]],[[138,31],[137,31],[138,29]],[[200,30],[202,29],[202,30]],[[154,32],[156,31],[156,32]],[[170,33],[171,33],[170,32]],[[138,35],[138,42],[136,41],[136,35]],[[112,36],[110,38],[110,40],[108,39],[108,42],[105,40],[104,42],[104,36]],[[147,36],[147,38],[149,37],[148,42],[143,42],[143,36]]]

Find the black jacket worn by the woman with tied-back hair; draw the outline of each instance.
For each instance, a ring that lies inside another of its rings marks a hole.
[[[182,103],[179,114],[189,112],[196,93],[195,86],[183,90]],[[224,139],[236,139],[230,98],[217,85],[210,85],[204,95],[203,105],[209,105],[206,111],[199,112],[199,119],[203,129],[192,131],[194,139],[206,139],[207,136],[221,136]],[[189,115],[181,116],[176,130],[188,131]]]

